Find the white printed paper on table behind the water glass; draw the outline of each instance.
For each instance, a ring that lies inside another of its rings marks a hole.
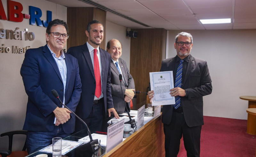
[[[65,155],[71,150],[75,149],[77,146],[80,146],[81,144],[81,142],[62,140],[61,154]],[[52,153],[52,145],[41,149],[40,152]]]

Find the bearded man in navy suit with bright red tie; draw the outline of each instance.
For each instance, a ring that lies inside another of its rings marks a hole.
[[[113,112],[119,118],[114,109],[110,79],[111,79],[111,57],[110,54],[99,48],[103,40],[103,25],[93,20],[86,28],[87,42],[84,45],[71,47],[68,54],[78,60],[79,74],[82,81],[82,94],[78,103],[76,114],[85,123],[91,124],[102,121],[104,117]],[[84,124],[76,119],[76,131],[84,128]]]

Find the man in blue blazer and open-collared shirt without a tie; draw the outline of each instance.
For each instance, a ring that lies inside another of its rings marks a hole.
[[[75,116],[51,92],[55,89],[60,100],[75,112],[81,96],[81,80],[77,59],[62,50],[67,33],[66,22],[59,19],[49,22],[47,44],[28,49],[20,69],[28,94],[23,130],[28,130],[29,154],[49,146],[52,138],[65,138],[75,130]]]

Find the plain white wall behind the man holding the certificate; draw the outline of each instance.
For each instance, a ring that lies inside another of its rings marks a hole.
[[[175,36],[169,31],[168,56],[175,56]],[[191,55],[207,61],[212,77],[212,94],[204,96],[204,116],[247,119],[248,101],[256,95],[256,30],[188,30],[192,34]]]

